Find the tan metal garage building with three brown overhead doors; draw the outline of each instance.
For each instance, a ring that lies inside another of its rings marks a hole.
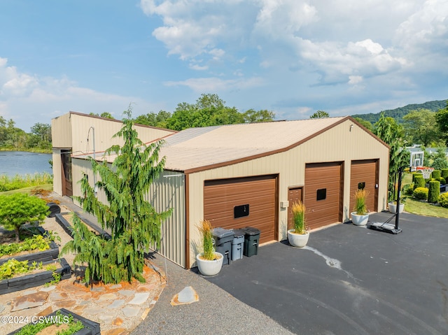
[[[142,141],[165,141],[165,171],[148,200],[158,211],[173,208],[158,251],[186,269],[195,266],[202,219],[214,227],[258,228],[260,243],[269,243],[286,238],[293,201],[307,206],[309,229],[349,220],[358,188],[369,191],[369,211],[386,208],[388,146],[351,117],[138,131]],[[91,174],[85,157],[71,155],[73,180]],[[73,194],[80,195],[76,183]]]

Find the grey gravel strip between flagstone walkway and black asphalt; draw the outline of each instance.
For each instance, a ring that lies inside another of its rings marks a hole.
[[[152,262],[167,273],[167,286],[151,313],[132,331],[132,335],[293,334],[197,273],[182,269],[172,262],[165,262],[160,255],[153,257]],[[186,286],[193,287],[199,295],[199,301],[172,306],[172,297]]]

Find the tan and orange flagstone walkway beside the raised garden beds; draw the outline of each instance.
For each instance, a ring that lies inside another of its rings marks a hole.
[[[99,322],[102,335],[129,334],[146,318],[165,287],[165,278],[158,271],[146,267],[146,283],[135,280],[132,284],[86,287],[72,276],[54,286],[3,294],[0,296],[0,334],[24,326],[19,320],[48,315],[59,308]],[[12,317],[9,319],[13,322],[2,318],[5,316]]]

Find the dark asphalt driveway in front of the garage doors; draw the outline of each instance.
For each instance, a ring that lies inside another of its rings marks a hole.
[[[338,224],[302,249],[264,245],[207,280],[295,334],[448,334],[448,220],[404,213],[400,228]]]

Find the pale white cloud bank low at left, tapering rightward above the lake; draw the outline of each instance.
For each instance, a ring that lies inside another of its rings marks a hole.
[[[29,131],[36,122],[51,123],[51,118],[69,111],[109,112],[121,118],[130,103],[139,115],[158,111],[164,106],[150,105],[137,97],[123,97],[79,87],[68,78],[38,78],[7,66],[0,58],[0,115],[13,119],[16,127]]]

